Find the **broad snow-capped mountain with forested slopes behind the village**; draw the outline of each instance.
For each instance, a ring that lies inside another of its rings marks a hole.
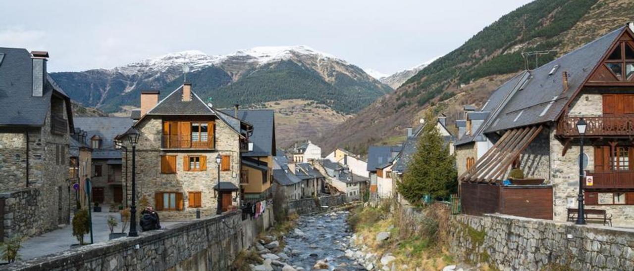
[[[209,55],[183,51],[112,69],[51,73],[70,98],[107,112],[138,106],[139,92],[167,94],[184,77],[214,104],[257,104],[280,99],[313,99],[351,113],[391,91],[361,68],[308,46],[267,46]],[[222,95],[220,95],[222,93]]]

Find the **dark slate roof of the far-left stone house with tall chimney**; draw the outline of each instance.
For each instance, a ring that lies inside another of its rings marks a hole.
[[[0,63],[0,126],[41,127],[51,108],[51,97],[55,94],[66,101],[68,126],[73,131],[70,98],[51,77],[46,75],[42,97],[31,95],[33,61],[29,51],[0,47],[0,54],[3,54]]]

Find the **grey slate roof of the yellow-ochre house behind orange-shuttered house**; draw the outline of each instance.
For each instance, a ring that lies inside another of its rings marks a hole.
[[[223,113],[230,115],[234,111],[223,110]],[[253,134],[249,137],[253,151],[242,156],[275,156],[275,111],[238,110],[238,119],[253,125]]]

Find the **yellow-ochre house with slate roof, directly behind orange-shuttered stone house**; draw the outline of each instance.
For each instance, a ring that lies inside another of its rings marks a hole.
[[[270,199],[275,157],[275,112],[273,110],[224,111],[227,115],[247,122],[253,127],[248,151],[242,152],[240,170],[240,198],[255,203]]]

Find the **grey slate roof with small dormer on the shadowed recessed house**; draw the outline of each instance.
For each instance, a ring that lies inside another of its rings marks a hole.
[[[114,139],[132,127],[134,121],[125,117],[75,118],[75,127],[85,130],[87,137],[101,137],[101,149],[114,149]],[[121,158],[121,156],[119,156]]]

